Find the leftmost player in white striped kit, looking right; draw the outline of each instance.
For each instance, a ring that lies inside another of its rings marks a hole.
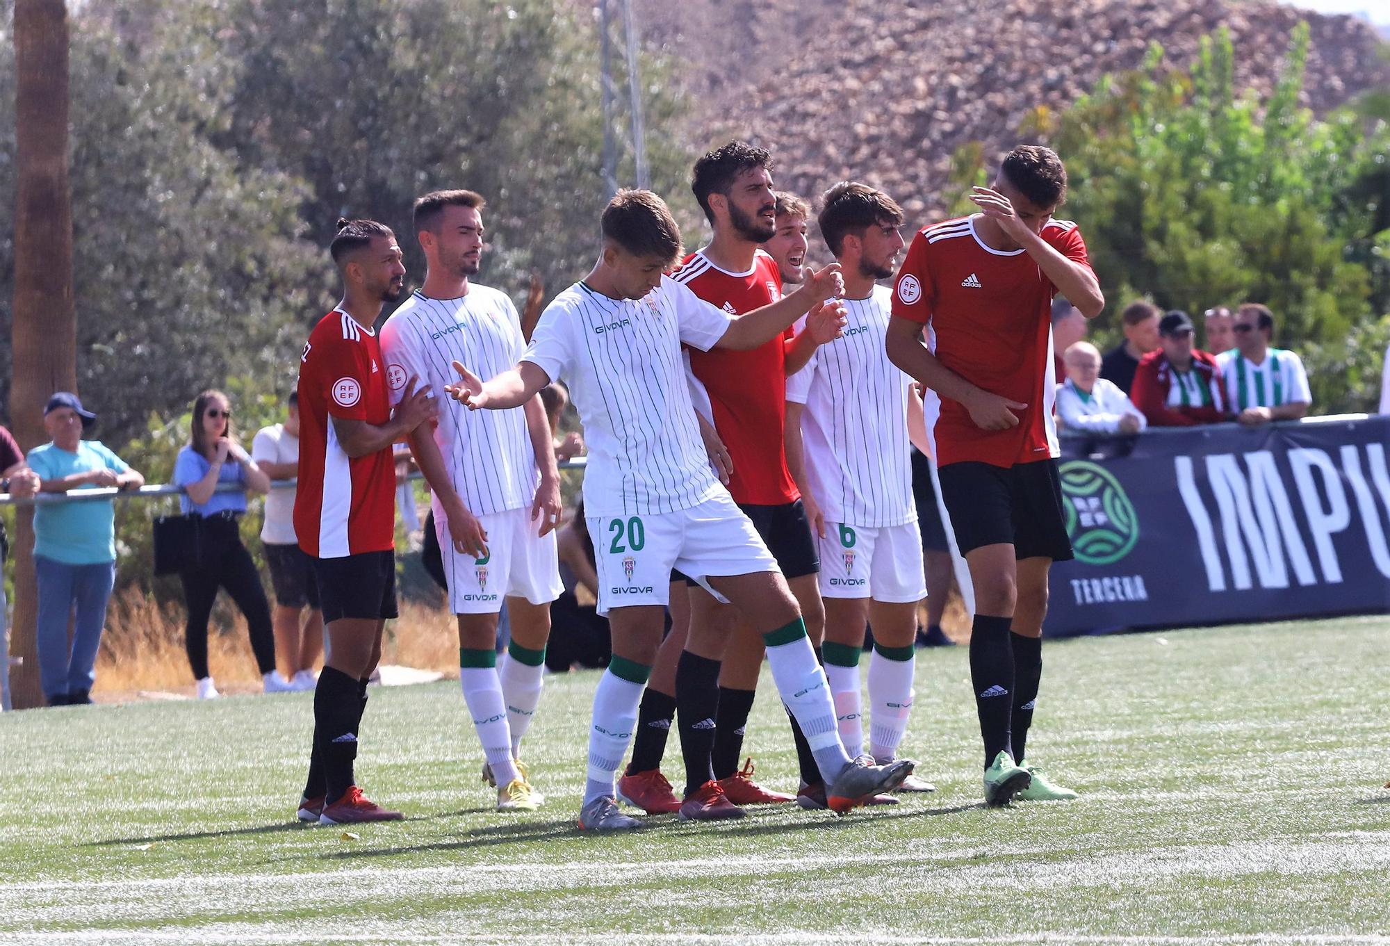
[[[482,259],[485,202],[473,191],[435,191],[416,200],[425,282],[381,328],[392,396],[418,376],[443,398],[432,430],[410,437],[434,492],[434,522],[459,619],[459,682],[498,789],[498,811],[543,800],[518,761],[521,736],[541,700],[550,602],[560,583],[555,526],[560,473],[539,396],[514,410],[475,413],[445,395],[450,362],[491,377],[521,358],[521,319],[499,289],[471,282]],[[498,616],[506,598],[512,639],[496,666]]]

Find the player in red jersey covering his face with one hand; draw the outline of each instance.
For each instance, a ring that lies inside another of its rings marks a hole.
[[[1056,469],[1051,303],[1105,306],[1076,224],[1054,220],[1066,168],[1016,147],[980,213],[919,232],[898,271],[888,358],[941,395],[941,494],[974,583],[970,679],[988,804],[1068,799],[1023,764],[1042,671],[1048,569],[1072,558]],[[926,330],[927,345],[922,342]]]

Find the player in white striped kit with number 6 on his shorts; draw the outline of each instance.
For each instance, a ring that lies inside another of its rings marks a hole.
[[[877,282],[897,270],[903,214],[883,191],[851,181],[830,188],[821,205],[820,232],[845,281],[847,326],[788,380],[787,420],[801,427],[798,466],[815,497],[821,652],[840,739],[852,755],[863,748],[859,657],[872,623],[869,748],[888,762],[912,708],[917,604],[926,594],[908,437],[909,412],[920,419],[922,403],[912,378],[884,351],[892,302]],[[902,787],[935,786],[912,776]]]

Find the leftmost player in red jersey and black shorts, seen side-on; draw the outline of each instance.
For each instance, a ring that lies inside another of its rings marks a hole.
[[[396,616],[396,465],[391,445],[435,416],[428,391],[406,385],[392,416],[373,324],[400,296],[406,267],[385,224],[339,220],[331,253],[343,299],[314,327],[299,366],[295,534],[314,559],[324,611],[324,671],[314,689],[314,743],[299,819],[396,821],[353,779],[367,678]]]

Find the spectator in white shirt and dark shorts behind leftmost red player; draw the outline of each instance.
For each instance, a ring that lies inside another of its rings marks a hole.
[[[252,459],[271,480],[299,476],[299,391],[289,392],[285,423],[261,427],[252,440]],[[313,690],[314,664],[324,650],[324,612],[318,609],[314,562],[295,537],[295,488],[271,488],[265,494],[261,548],[275,588],[271,615],[279,665],[289,669],[275,676],[291,690]],[[307,611],[307,614],[306,614]]]

